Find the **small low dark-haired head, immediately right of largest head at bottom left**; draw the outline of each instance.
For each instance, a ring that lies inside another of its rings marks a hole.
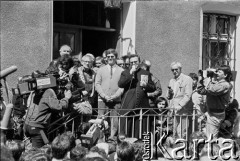
[[[88,152],[88,150],[85,147],[78,145],[70,151],[70,159],[76,160],[76,161],[80,160],[80,159],[84,158],[84,156],[87,154],[87,152]]]

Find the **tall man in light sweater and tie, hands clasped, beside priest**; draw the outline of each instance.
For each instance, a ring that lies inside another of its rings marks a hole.
[[[108,64],[97,71],[95,87],[99,94],[98,116],[104,116],[109,109],[111,116],[111,134],[114,137],[118,129],[117,109],[121,106],[123,88],[118,87],[123,69],[116,64],[118,53],[114,49],[106,51]]]

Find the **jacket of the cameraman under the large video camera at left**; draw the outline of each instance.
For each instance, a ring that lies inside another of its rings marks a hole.
[[[25,124],[46,128],[49,125],[53,110],[62,110],[68,107],[68,99],[57,99],[52,89],[47,89],[43,94],[30,94],[29,109],[27,111]]]

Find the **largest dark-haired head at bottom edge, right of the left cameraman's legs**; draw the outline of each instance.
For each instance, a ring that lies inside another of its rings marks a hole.
[[[70,138],[67,135],[57,136],[52,142],[52,157],[63,159],[70,147]]]

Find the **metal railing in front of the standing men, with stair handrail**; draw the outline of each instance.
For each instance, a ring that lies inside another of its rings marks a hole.
[[[100,117],[104,117],[105,120],[111,120],[114,117],[118,118],[118,132],[120,131],[122,120],[125,121],[125,134],[127,134],[128,137],[137,137],[142,138],[143,132],[152,132],[153,133],[153,141],[156,143],[156,137],[159,137],[163,134],[163,131],[169,132],[172,130],[174,137],[180,137],[189,139],[189,136],[192,132],[196,130],[200,130],[201,123],[199,125],[197,119],[201,115],[196,114],[196,109],[193,110],[193,113],[191,115],[168,115],[168,114],[159,114],[158,109],[149,109],[149,108],[142,108],[142,109],[117,109],[117,116],[109,116],[110,112],[115,109],[107,109],[107,113],[103,116],[98,116],[98,110],[106,110],[106,109],[100,109],[100,108],[94,108],[93,109],[93,115],[91,115],[91,119],[96,119]],[[171,109],[168,109],[171,110]],[[125,111],[123,113],[123,111]],[[55,133],[55,135],[58,135],[58,129],[61,127],[72,126],[72,133],[75,133],[76,127],[75,127],[75,120],[80,120],[83,122],[83,116],[81,114],[77,114],[76,112],[68,113],[61,117],[60,119],[54,121],[50,128],[51,130],[48,131],[48,135]],[[158,124],[160,122],[164,122],[162,124]],[[60,124],[59,124],[60,122]],[[62,123],[63,122],[63,123]],[[137,123],[137,124],[136,124]],[[178,124],[178,126],[176,125]],[[55,128],[51,128],[58,125]],[[146,125],[146,127],[143,127],[143,125]],[[131,129],[129,130],[129,126],[131,126]],[[136,127],[138,126],[138,127]],[[177,127],[180,129],[177,131]],[[198,128],[197,128],[198,127]],[[137,129],[138,131],[134,130]],[[186,131],[182,131],[185,129]],[[145,131],[144,131],[145,130]],[[177,134],[178,132],[178,134]],[[136,134],[138,134],[136,136]]]

